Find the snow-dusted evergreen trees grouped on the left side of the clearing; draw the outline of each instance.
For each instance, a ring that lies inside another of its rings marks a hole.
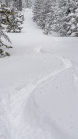
[[[21,14],[22,0],[0,0],[0,57],[10,56],[7,48],[12,48],[3,43],[2,37],[10,41],[5,32],[19,33],[24,16]]]

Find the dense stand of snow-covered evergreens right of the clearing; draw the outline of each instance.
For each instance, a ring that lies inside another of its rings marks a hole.
[[[35,0],[33,20],[45,34],[78,36],[78,0]]]

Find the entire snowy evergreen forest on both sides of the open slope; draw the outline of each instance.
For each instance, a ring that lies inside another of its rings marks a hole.
[[[55,31],[59,36],[78,37],[78,0],[0,0],[0,56],[9,56],[6,48],[11,48],[2,36],[11,42],[5,32],[20,33],[22,8],[31,7],[33,20],[45,34]]]

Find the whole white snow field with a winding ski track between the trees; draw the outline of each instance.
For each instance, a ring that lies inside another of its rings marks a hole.
[[[0,59],[0,139],[78,139],[78,38],[44,35],[24,15]]]

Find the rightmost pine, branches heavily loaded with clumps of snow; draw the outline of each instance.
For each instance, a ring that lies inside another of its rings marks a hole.
[[[61,36],[76,36],[78,33],[78,2],[67,1],[61,5],[59,14],[59,33]],[[60,16],[61,15],[61,16]],[[58,21],[57,21],[58,22]]]

